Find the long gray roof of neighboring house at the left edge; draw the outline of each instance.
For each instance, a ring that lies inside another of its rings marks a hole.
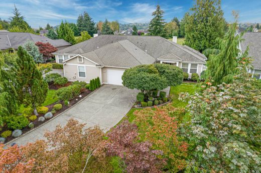
[[[23,45],[28,39],[34,42],[49,42],[58,50],[71,45],[71,43],[65,41],[64,39],[51,39],[46,36],[40,36],[28,32],[0,32],[0,50],[8,48],[17,49],[20,45]]]

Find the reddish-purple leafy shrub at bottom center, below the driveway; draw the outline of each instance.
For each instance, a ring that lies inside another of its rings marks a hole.
[[[107,154],[123,159],[127,172],[159,172],[165,163],[157,157],[162,152],[151,149],[152,143],[138,142],[138,127],[134,123],[123,121],[107,136]]]

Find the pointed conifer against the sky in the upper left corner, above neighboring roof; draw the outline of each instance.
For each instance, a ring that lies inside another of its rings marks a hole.
[[[13,26],[18,26],[23,30],[27,30],[28,28],[31,28],[29,24],[24,20],[24,16],[21,15],[21,12],[19,12],[16,5],[13,14],[14,16],[10,18],[11,22],[9,28],[12,28]]]

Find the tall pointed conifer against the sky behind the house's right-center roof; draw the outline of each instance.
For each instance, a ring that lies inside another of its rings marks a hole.
[[[152,35],[161,35],[164,30],[164,11],[161,9],[160,5],[157,5],[156,11],[152,13],[154,15],[153,19],[149,24],[149,31]]]

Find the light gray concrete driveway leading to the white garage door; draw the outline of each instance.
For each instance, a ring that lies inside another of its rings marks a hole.
[[[124,86],[103,85],[59,116],[12,142],[23,145],[37,139],[45,139],[46,130],[54,130],[58,124],[65,125],[71,117],[86,123],[86,127],[99,125],[105,132],[116,125],[132,108],[137,93],[138,90]]]

